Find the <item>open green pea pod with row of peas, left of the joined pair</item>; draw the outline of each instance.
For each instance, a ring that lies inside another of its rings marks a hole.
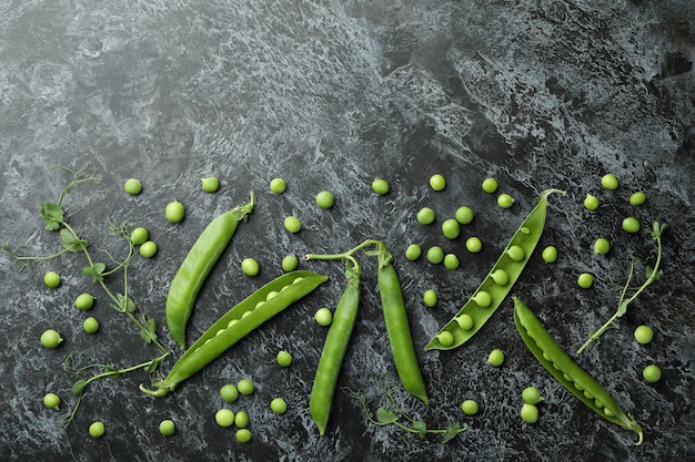
[[[328,277],[311,271],[292,271],[268,283],[215,321],[171,368],[157,390],[140,386],[153,397],[163,397],[195,374],[239,340],[273,316],[325,283]]]

